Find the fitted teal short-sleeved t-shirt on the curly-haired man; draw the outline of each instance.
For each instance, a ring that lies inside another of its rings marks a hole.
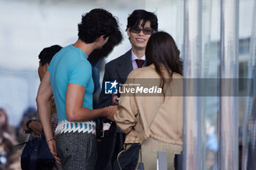
[[[91,76],[91,63],[88,56],[78,47],[69,45],[54,55],[48,66],[50,84],[56,104],[59,122],[67,120],[65,115],[65,99],[67,85],[77,84],[86,88],[83,107],[92,109],[94,81]]]

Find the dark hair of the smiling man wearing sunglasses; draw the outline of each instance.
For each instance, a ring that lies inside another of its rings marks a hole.
[[[143,20],[142,26],[145,26],[146,21],[150,21],[151,28],[154,31],[157,31],[158,29],[158,23],[157,23],[157,15],[155,15],[153,12],[148,12],[143,9],[137,9],[132,12],[131,15],[129,15],[129,18],[127,18],[127,28],[135,28],[139,27],[140,20]]]

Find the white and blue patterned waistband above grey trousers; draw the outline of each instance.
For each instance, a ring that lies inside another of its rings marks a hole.
[[[78,133],[88,133],[96,134],[96,123],[93,120],[87,122],[69,122],[68,120],[62,120],[58,123],[55,130],[55,134],[62,133],[73,133],[78,131]]]

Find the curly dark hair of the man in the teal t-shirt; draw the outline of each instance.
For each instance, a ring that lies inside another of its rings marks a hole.
[[[86,43],[95,42],[102,35],[106,38],[116,31],[118,22],[105,9],[92,9],[86,15],[82,15],[82,21],[78,24],[78,37]]]

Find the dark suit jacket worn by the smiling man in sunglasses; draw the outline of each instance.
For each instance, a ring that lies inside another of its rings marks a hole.
[[[99,108],[108,107],[112,103],[112,95],[105,94],[105,81],[116,80],[118,83],[124,84],[124,82],[127,81],[128,74],[132,72],[132,69],[132,50],[106,63],[102,90],[99,95]]]

